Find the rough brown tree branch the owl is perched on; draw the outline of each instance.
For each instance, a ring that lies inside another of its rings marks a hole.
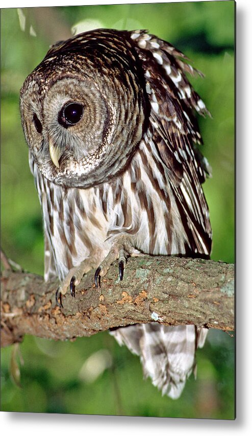
[[[58,283],[31,273],[2,273],[1,346],[24,334],[51,339],[89,336],[113,327],[158,321],[234,330],[234,265],[179,257],[131,258],[118,278],[112,265],[101,287],[94,271],[56,306]]]

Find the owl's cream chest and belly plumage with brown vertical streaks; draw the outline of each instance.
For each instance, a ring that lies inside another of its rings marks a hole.
[[[119,234],[131,235],[133,246],[146,254],[208,254],[197,233],[192,244],[188,228],[192,232],[193,223],[190,229],[181,219],[169,172],[147,135],[127,170],[89,189],[57,186],[42,177],[32,158],[30,162],[60,279],[84,259],[99,264]]]

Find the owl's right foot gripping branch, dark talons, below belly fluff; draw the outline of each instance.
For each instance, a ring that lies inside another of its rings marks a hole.
[[[100,263],[94,274],[94,283],[96,288],[100,287],[100,278],[104,277],[110,265],[118,259],[119,278],[122,280],[125,265],[128,257],[144,256],[139,250],[132,246],[131,238],[125,235],[118,236],[113,243],[109,254]]]

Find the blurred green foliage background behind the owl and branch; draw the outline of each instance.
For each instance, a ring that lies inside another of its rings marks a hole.
[[[1,237],[10,258],[43,273],[41,212],[21,129],[19,89],[49,44],[70,37],[73,28],[105,27],[148,29],[205,74],[190,81],[212,114],[198,120],[213,172],[204,185],[212,259],[234,262],[234,16],[233,1],[1,10]],[[98,350],[107,350],[111,362],[92,381],[85,362]],[[21,388],[9,372],[12,349],[2,350],[1,410],[234,418],[234,339],[223,332],[209,332],[197,352],[197,380],[191,376],[176,401],[143,381],[139,359],[108,333],[56,343],[26,337],[20,351]]]

